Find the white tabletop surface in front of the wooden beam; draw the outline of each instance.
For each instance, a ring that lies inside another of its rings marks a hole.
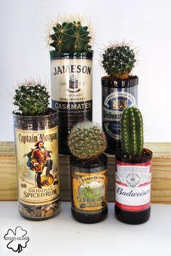
[[[4,235],[17,226],[26,230],[27,247],[18,254],[7,248]],[[0,255],[60,256],[171,256],[171,205],[152,204],[150,219],[141,225],[120,223],[109,204],[106,220],[96,224],[78,223],[70,213],[70,203],[62,203],[57,217],[44,221],[25,220],[17,202],[0,202]]]

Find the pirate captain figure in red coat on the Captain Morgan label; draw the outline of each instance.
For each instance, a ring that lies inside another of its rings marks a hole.
[[[51,185],[54,181],[53,175],[51,175],[51,167],[53,161],[51,160],[51,151],[46,150],[43,140],[38,140],[35,144],[36,148],[32,149],[28,156],[28,167],[36,172],[35,181],[38,188],[42,185]],[[43,169],[46,167],[46,175],[42,175]]]

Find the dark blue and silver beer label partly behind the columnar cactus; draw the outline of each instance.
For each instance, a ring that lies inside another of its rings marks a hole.
[[[128,106],[137,104],[137,86],[129,88],[103,87],[103,128],[109,137],[120,140],[120,119]]]

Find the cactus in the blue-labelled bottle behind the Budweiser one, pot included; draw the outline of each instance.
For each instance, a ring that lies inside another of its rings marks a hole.
[[[131,74],[135,61],[135,50],[126,43],[110,44],[103,54],[102,65],[108,76],[101,78],[102,124],[108,153],[120,148],[122,111],[137,104],[138,77]]]

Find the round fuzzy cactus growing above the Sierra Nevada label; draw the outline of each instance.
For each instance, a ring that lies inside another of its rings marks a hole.
[[[86,121],[72,128],[69,147],[72,155],[78,159],[96,159],[104,153],[107,140],[99,125]]]

